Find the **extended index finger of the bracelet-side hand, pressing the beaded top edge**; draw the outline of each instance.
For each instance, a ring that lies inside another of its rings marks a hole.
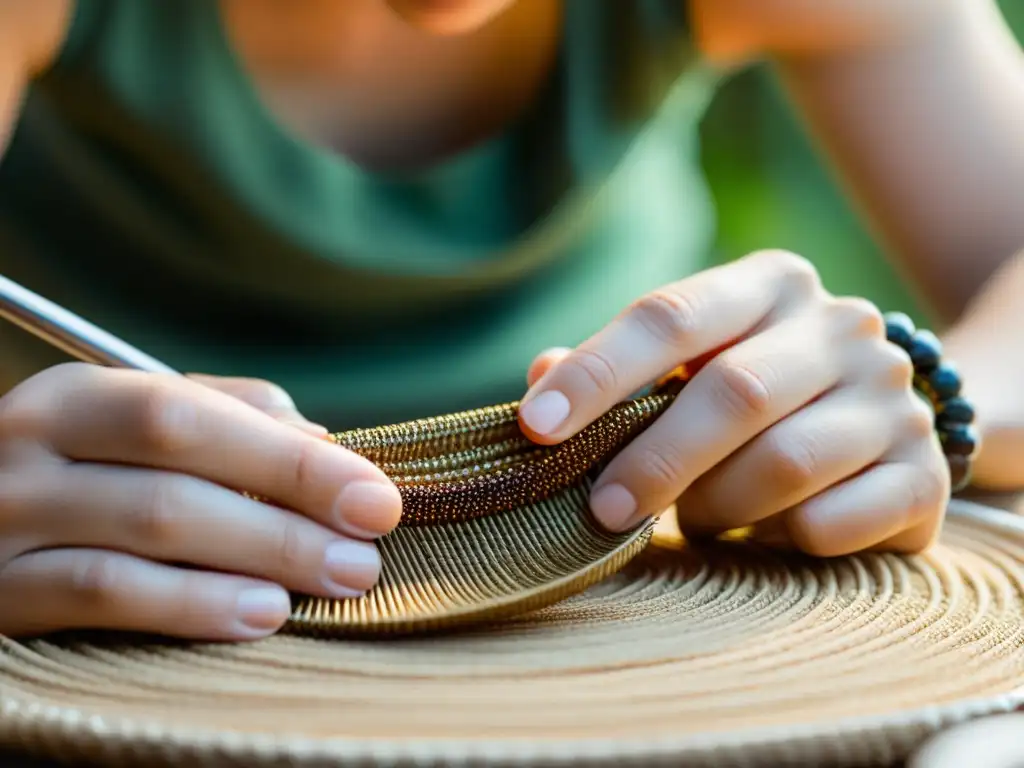
[[[539,442],[565,439],[680,364],[748,335],[787,288],[817,286],[803,260],[759,254],[648,294],[537,382],[519,409],[522,428]]]

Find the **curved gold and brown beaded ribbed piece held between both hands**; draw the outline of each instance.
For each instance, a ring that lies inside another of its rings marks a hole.
[[[332,636],[466,629],[579,594],[646,547],[653,520],[609,534],[591,519],[590,484],[665,412],[682,371],[551,446],[518,426],[518,403],[331,439],[398,486],[402,517],[379,541],[381,579],[345,600],[297,596],[286,631]]]

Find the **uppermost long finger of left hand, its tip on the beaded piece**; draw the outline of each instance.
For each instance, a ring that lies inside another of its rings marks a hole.
[[[31,396],[11,410],[38,414],[49,446],[75,461],[196,475],[360,538],[386,534],[401,513],[397,488],[368,460],[184,377],[81,367]]]

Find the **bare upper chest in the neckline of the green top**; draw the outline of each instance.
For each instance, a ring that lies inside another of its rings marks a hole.
[[[376,170],[443,159],[500,133],[551,75],[561,0],[519,0],[475,32],[410,27],[380,0],[219,0],[260,99],[303,140]]]

